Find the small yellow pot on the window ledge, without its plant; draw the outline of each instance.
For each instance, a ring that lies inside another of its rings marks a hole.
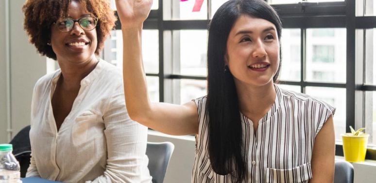
[[[348,162],[364,162],[369,134],[353,136],[351,133],[341,134],[343,155]]]

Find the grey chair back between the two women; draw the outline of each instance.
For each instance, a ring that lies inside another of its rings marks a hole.
[[[149,157],[148,168],[153,177],[153,183],[163,183],[173,149],[174,145],[171,142],[148,142],[146,155]]]

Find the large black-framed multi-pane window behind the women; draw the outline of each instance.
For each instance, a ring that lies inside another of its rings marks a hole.
[[[114,1],[114,0],[112,0]],[[227,0],[154,0],[144,23],[143,56],[153,101],[183,104],[206,94],[207,23]],[[349,126],[371,134],[376,160],[376,3],[374,0],[268,0],[283,24],[279,86],[336,107],[336,154]],[[353,11],[346,11],[353,10]],[[355,12],[355,13],[354,13]],[[118,23],[120,24],[120,23]],[[118,29],[120,27],[118,26]],[[121,67],[121,33],[104,57]]]

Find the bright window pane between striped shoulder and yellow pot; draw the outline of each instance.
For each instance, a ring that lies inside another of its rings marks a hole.
[[[341,134],[346,132],[346,89],[306,87],[306,93],[336,108],[333,116],[336,141],[342,141]]]

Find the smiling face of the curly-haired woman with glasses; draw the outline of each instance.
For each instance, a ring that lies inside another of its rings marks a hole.
[[[93,16],[80,2],[72,0],[68,6],[68,18],[80,19]],[[63,17],[65,18],[65,17]],[[74,22],[71,31],[63,33],[59,31],[56,24],[51,26],[51,46],[58,61],[68,61],[79,64],[95,60],[95,49],[97,48],[96,29],[84,31],[78,22]]]

